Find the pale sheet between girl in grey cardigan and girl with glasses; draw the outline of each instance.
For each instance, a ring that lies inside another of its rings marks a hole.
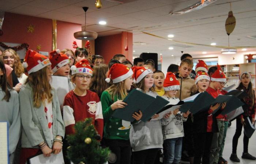
[[[62,106],[65,95],[69,92],[68,78],[65,76],[52,76],[51,86],[56,89],[60,106]]]

